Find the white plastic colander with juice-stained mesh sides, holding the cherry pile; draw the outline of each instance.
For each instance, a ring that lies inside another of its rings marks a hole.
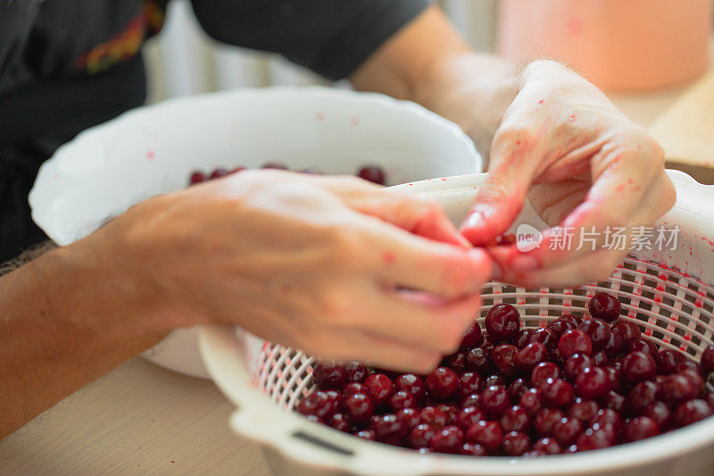
[[[644,249],[629,255],[608,280],[580,288],[527,290],[489,282],[483,289],[480,320],[494,304],[519,309],[535,328],[563,312],[587,313],[597,291],[619,297],[623,316],[643,327],[663,347],[698,361],[714,344],[714,187],[679,171],[668,171],[677,205],[660,221],[678,226],[677,249]],[[426,180],[395,189],[435,198],[454,222],[461,222],[485,174]],[[545,224],[526,206],[516,225]],[[230,424],[238,435],[259,443],[276,474],[360,475],[569,475],[698,476],[714,474],[714,417],[656,438],[575,455],[535,459],[419,455],[355,438],[308,422],[291,410],[311,391],[312,358],[265,342],[243,330],[202,331],[203,360],[213,380],[238,406]],[[712,382],[709,382],[711,386]]]

